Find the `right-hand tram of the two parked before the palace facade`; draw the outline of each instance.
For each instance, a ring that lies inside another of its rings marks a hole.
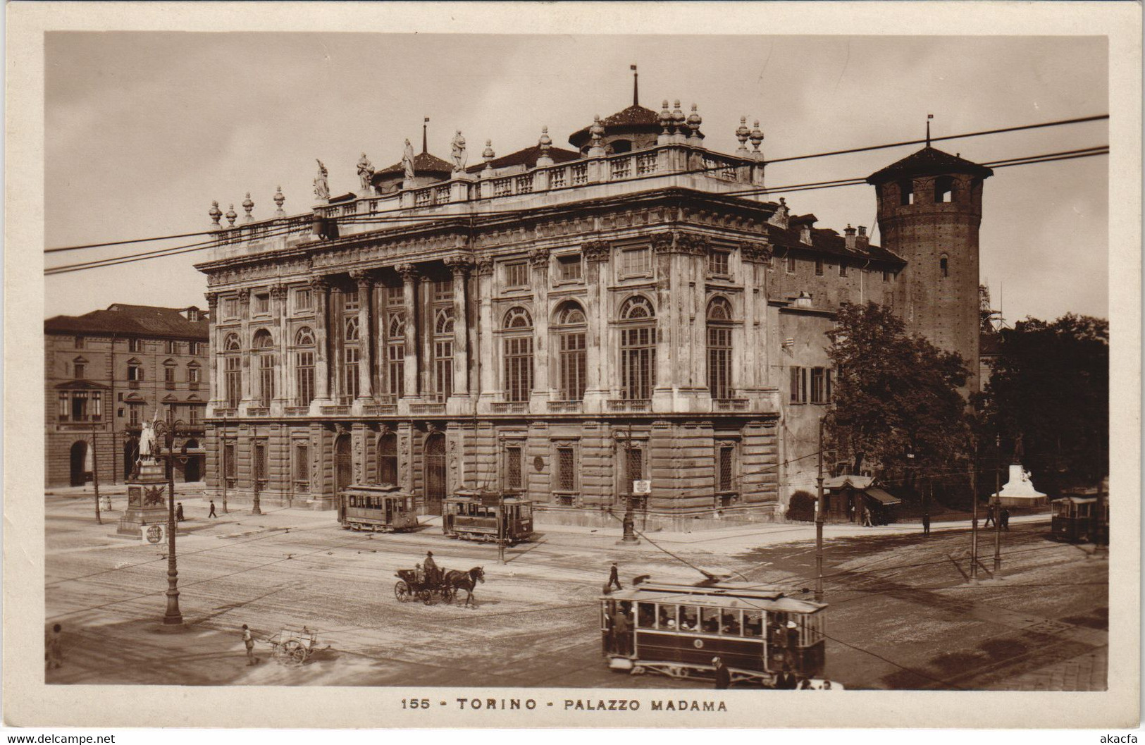
[[[442,500],[441,530],[449,538],[464,541],[497,542],[506,546],[532,536],[532,502],[520,492],[459,489]]]

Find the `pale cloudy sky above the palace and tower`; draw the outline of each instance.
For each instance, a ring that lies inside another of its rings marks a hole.
[[[505,155],[556,146],[632,102],[693,103],[705,146],[733,152],[741,116],[759,119],[768,158],[1108,111],[1101,37],[459,36],[386,33],[49,32],[45,80],[45,248],[163,236],[210,226],[246,193],[269,218],[313,206],[315,158],[333,194],[420,146],[449,158],[461,130],[469,162],[485,140]],[[1105,121],[950,140],[976,162],[1106,144]],[[905,147],[768,166],[767,186],[866,177]],[[1107,157],[1000,168],[986,182],[981,281],[1012,323],[1108,315]],[[774,198],[781,196],[776,193]],[[818,227],[875,228],[869,186],[795,193]],[[242,218],[239,218],[242,219]],[[199,238],[202,240],[202,238]],[[46,266],[179,241],[49,254]],[[874,242],[878,243],[877,230]],[[45,313],[112,303],[205,306],[205,252],[46,277]]]

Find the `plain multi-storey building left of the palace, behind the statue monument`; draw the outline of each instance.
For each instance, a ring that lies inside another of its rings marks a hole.
[[[116,303],[105,311],[57,315],[44,323],[45,481],[81,486],[131,475],[140,425],[158,411],[175,428],[176,478],[204,470],[210,398],[207,314]]]

